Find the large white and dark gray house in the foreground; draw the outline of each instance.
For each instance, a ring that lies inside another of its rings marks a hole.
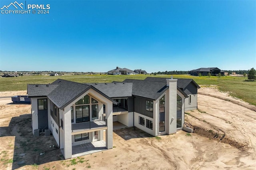
[[[176,133],[183,127],[188,98],[177,79],[86,84],[57,79],[28,85],[28,96],[33,134],[50,129],[65,159],[76,157],[74,150],[84,144],[100,142],[100,148],[112,148],[113,121],[153,136]]]

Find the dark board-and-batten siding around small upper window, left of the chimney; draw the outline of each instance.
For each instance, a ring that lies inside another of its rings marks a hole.
[[[140,113],[141,115],[145,115],[154,119],[153,112],[146,110],[146,101],[153,101],[152,99],[147,99],[143,97],[135,97],[134,98],[134,112]]]

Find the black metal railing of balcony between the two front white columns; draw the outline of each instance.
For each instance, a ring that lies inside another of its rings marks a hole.
[[[72,132],[76,130],[87,130],[92,128],[106,127],[106,121],[93,121],[72,124]]]

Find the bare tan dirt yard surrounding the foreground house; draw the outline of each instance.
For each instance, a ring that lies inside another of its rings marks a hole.
[[[25,93],[0,92],[1,170],[256,169],[256,107],[215,88],[199,89],[199,109],[185,115],[195,133],[155,138],[137,128],[114,130],[113,149],[71,160],[52,136],[33,138],[30,105],[4,98]]]

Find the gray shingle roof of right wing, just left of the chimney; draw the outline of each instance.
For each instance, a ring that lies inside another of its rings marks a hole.
[[[166,82],[125,79],[123,83],[132,83],[132,95],[154,100],[168,89]]]

